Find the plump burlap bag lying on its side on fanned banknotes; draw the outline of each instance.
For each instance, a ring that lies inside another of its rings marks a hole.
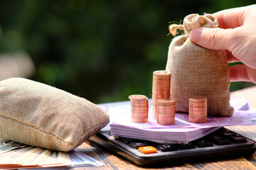
[[[66,152],[108,122],[85,98],[28,79],[0,81],[0,138]]]

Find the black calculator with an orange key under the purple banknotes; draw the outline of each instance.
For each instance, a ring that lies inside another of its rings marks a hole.
[[[256,150],[255,141],[227,128],[220,128],[188,144],[160,144],[118,137],[106,130],[90,137],[89,141],[138,166],[227,159],[247,156],[255,153]]]

